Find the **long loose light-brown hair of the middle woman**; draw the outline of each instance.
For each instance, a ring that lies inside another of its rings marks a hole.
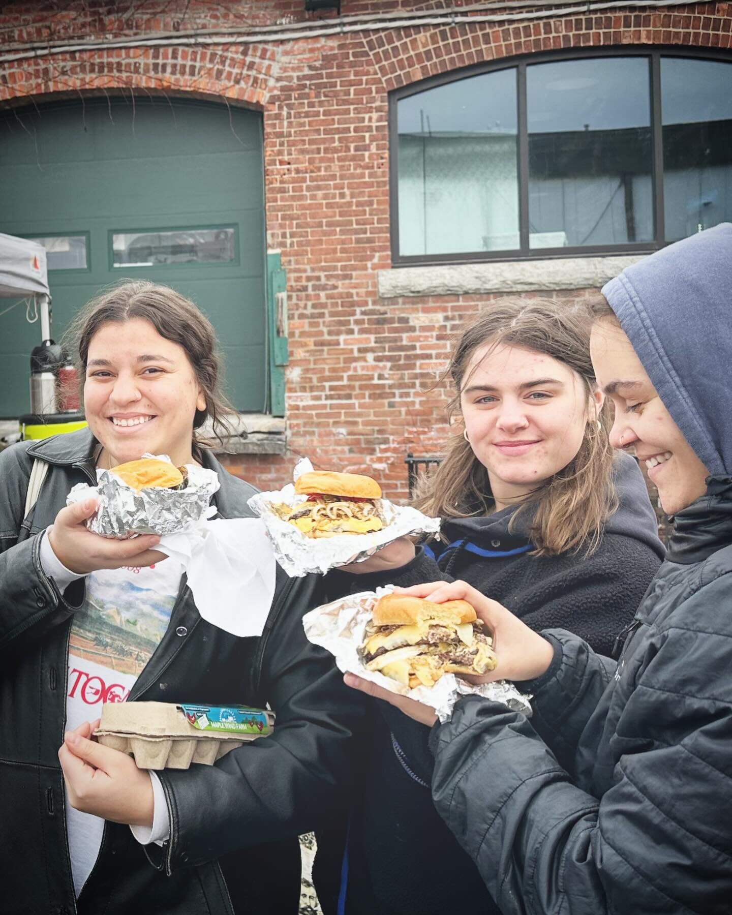
[[[517,346],[544,353],[575,371],[584,383],[587,404],[595,386],[589,358],[591,321],[587,305],[557,303],[551,299],[503,299],[479,312],[462,329],[443,380],[452,378],[455,394],[447,405],[448,420],[459,413],[460,392],[469,361],[480,346]],[[603,408],[587,422],[582,445],[565,468],[540,483],[513,513],[532,512],[530,535],[533,555],[555,555],[568,550],[597,549],[604,523],[618,506],[612,484],[613,451],[608,441],[608,411]],[[443,518],[487,514],[493,507],[486,468],[464,439],[464,426],[447,445],[445,459],[423,484],[416,505]]]

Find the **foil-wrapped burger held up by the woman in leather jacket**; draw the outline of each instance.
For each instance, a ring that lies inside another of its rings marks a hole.
[[[213,470],[186,464],[177,468],[167,455],[97,470],[97,485],[78,483],[66,504],[90,497],[99,508],[86,522],[93,533],[124,539],[137,533],[185,531],[210,514],[210,498],[219,489]]]

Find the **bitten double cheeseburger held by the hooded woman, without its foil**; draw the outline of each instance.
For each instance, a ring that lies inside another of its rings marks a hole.
[[[404,686],[433,686],[443,673],[488,673],[496,666],[490,636],[467,600],[436,604],[387,594],[374,605],[359,649],[370,671]]]

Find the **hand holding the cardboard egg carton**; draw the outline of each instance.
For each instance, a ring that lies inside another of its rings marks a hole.
[[[98,725],[99,721],[85,721],[67,731],[59,748],[71,806],[113,823],[152,826],[155,805],[150,776],[137,768],[131,756],[92,740]]]

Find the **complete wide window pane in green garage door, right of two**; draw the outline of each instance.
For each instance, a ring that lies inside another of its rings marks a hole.
[[[235,237],[233,227],[114,232],[113,266],[232,263]]]

